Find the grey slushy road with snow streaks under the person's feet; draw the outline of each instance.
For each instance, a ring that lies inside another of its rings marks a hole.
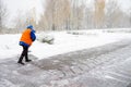
[[[0,60],[0,87],[131,87],[131,40],[19,65]]]

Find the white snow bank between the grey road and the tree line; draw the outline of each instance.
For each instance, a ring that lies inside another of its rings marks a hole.
[[[36,40],[29,48],[29,53],[38,59],[47,59],[56,54],[94,48],[122,39],[131,39],[130,33],[130,28],[48,33],[55,38],[53,45]],[[39,34],[36,35],[39,36]],[[22,47],[19,46],[20,37],[21,34],[0,35],[0,59],[13,58],[21,54]]]

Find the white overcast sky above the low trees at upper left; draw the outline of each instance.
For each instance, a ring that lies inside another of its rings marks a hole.
[[[11,23],[17,14],[25,14],[35,8],[36,17],[38,17],[43,11],[41,0],[4,0],[4,4],[9,11],[9,21],[7,22],[9,26],[12,26]]]

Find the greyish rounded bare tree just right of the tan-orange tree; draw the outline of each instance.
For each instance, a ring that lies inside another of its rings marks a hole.
[[[120,27],[123,20],[123,12],[121,11],[118,3],[110,0],[106,5],[106,26],[108,28]],[[124,24],[124,23],[123,23]],[[122,24],[122,25],[123,25]]]

